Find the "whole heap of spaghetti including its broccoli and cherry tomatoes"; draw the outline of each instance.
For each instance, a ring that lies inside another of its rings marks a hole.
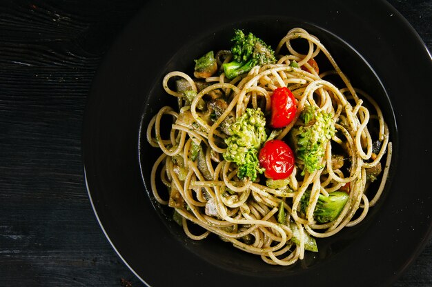
[[[275,50],[234,32],[230,50],[196,59],[193,75],[164,77],[178,106],[148,125],[148,142],[162,152],[153,195],[188,237],[215,234],[290,265],[317,252],[315,238],[355,226],[375,205],[391,161],[389,130],[373,97],[353,88],[306,30],[293,28]],[[308,48],[299,52],[297,41]],[[320,71],[320,59],[329,70]]]

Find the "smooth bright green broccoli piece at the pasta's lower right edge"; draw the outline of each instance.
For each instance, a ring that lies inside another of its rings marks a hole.
[[[300,210],[304,213],[306,213],[310,197],[311,192],[307,191],[304,192],[302,199],[300,199]],[[321,224],[335,220],[342,212],[348,197],[348,193],[343,191],[331,192],[328,197],[318,195],[317,205],[313,210],[313,218]]]

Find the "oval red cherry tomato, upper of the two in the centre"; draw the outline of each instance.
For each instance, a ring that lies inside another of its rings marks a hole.
[[[293,92],[286,87],[277,88],[271,97],[271,120],[272,128],[284,128],[288,126],[295,117],[297,106]]]

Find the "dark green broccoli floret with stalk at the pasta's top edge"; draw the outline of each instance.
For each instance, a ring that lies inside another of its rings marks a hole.
[[[275,63],[275,52],[262,39],[254,34],[244,34],[242,30],[235,30],[231,52],[233,61],[224,63],[225,75],[228,79],[249,72],[253,67],[267,63]]]

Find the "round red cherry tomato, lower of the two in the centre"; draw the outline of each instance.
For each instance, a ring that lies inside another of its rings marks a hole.
[[[259,164],[265,168],[264,176],[269,179],[286,179],[293,172],[294,152],[280,139],[272,139],[264,143],[259,150]]]

